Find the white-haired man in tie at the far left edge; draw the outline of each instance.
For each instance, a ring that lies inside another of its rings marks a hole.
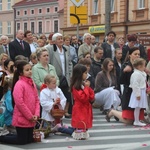
[[[0,46],[0,54],[6,53],[8,56],[10,56],[9,53],[9,38],[6,35],[2,35],[0,37],[0,40],[2,42],[2,45]]]

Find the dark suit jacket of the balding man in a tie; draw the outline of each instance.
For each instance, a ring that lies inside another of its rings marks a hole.
[[[31,50],[30,50],[30,45],[23,41],[24,49],[20,45],[20,43],[15,39],[13,42],[9,43],[9,52],[10,52],[10,58],[14,61],[15,57],[17,55],[23,55],[25,57],[30,58],[31,55]]]

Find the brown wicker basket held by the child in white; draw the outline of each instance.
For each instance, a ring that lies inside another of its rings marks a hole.
[[[63,110],[61,104],[53,105],[51,109],[51,115],[53,116],[53,118],[60,119],[64,116],[64,114],[65,114],[65,111]]]

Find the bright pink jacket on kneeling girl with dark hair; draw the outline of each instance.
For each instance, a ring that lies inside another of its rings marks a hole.
[[[12,124],[16,127],[34,127],[30,119],[40,115],[38,92],[31,78],[20,76],[13,91],[15,102]]]

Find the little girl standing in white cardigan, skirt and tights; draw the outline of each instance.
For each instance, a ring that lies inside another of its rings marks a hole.
[[[139,121],[139,113],[141,108],[147,108],[147,95],[146,95],[146,61],[138,58],[134,61],[134,72],[130,78],[130,87],[132,94],[130,97],[129,107],[134,108],[134,125],[145,126],[145,123]]]

